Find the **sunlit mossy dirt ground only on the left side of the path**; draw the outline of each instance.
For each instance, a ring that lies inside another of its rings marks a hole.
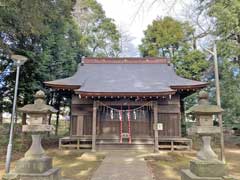
[[[104,153],[83,152],[80,150],[50,149],[47,154],[53,157],[53,166],[61,167],[62,176],[74,180],[89,180],[92,173],[104,159]],[[15,166],[17,159],[23,154],[14,154],[11,167]],[[0,179],[4,174],[4,157],[0,157]]]

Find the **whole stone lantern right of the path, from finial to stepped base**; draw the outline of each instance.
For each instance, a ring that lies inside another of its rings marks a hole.
[[[226,164],[219,161],[211,148],[211,136],[220,134],[221,129],[213,126],[213,115],[223,112],[216,105],[209,104],[208,94],[204,91],[199,94],[199,104],[189,110],[195,115],[197,124],[189,129],[189,134],[198,134],[202,138],[202,146],[197,153],[197,159],[190,161],[190,169],[181,171],[182,180],[233,180],[228,176]]]

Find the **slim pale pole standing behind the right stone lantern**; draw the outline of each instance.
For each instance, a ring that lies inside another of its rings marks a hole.
[[[214,73],[215,73],[215,83],[216,83],[216,99],[217,99],[217,105],[221,107],[216,42],[214,42],[213,44],[213,56],[214,56]],[[220,145],[221,145],[220,159],[225,163],[222,114],[218,115],[218,122],[220,127]]]

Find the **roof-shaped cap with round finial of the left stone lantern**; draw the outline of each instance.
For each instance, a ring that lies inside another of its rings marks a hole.
[[[18,108],[18,111],[27,114],[51,114],[57,112],[56,109],[45,103],[45,93],[43,91],[37,91],[34,97],[34,104],[27,104],[22,108]]]

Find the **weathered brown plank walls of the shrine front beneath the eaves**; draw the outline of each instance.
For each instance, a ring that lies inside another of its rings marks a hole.
[[[124,100],[120,102],[108,101],[108,105],[121,104]],[[145,102],[135,102],[132,101],[132,105],[141,105]],[[71,131],[72,136],[82,136],[92,134],[92,111],[93,111],[93,100],[92,99],[79,99],[77,95],[72,97],[72,121],[71,121]],[[141,136],[141,132],[153,136],[153,112],[150,113],[149,124],[147,122],[131,122],[132,128],[136,131],[135,136]],[[99,134],[116,134],[119,131],[119,122],[115,121],[100,121],[100,112],[97,112],[97,135]],[[163,130],[159,131],[159,138],[161,137],[180,137],[181,136],[181,114],[180,114],[180,97],[178,95],[173,96],[171,99],[159,99],[158,100],[158,122],[163,124]],[[141,127],[140,127],[141,126]],[[113,128],[115,127],[115,129]],[[112,132],[113,131],[113,132]]]

